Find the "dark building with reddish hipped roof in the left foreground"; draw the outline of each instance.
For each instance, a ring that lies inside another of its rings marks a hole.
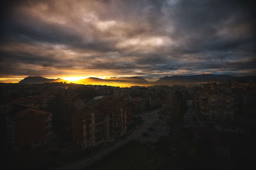
[[[8,143],[16,152],[45,145],[51,134],[51,114],[26,108],[6,117]]]

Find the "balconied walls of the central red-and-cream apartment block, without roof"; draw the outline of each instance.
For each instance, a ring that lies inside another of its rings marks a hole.
[[[113,141],[127,132],[127,115],[131,119],[132,107],[129,105],[97,117],[91,113],[90,118],[84,120],[72,117],[72,137],[82,148]]]

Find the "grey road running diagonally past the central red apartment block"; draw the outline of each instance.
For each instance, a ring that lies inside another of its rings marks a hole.
[[[163,106],[164,107],[164,106]],[[159,112],[162,108],[159,108],[157,110],[153,110],[147,113],[141,113],[140,116],[145,122],[140,125],[139,129],[136,129],[132,132],[131,136],[127,136],[127,138],[122,139],[115,143],[115,145],[108,146],[106,148],[102,148],[102,152],[97,153],[97,155],[93,155],[93,157],[86,158],[86,159],[79,159],[76,162],[72,162],[71,164],[58,167],[56,169],[84,169],[95,162],[95,160],[100,160],[103,157],[105,157],[108,153],[111,153],[113,150],[116,150],[117,148],[120,148],[121,146],[124,146],[131,140],[139,140],[140,143],[147,143],[149,142],[156,142],[159,139],[159,133],[163,131],[163,127],[166,127],[167,122],[166,120],[162,120],[162,122],[159,125],[155,125],[154,122],[157,120],[157,112]],[[148,131],[148,127],[153,127],[155,131]],[[142,136],[144,132],[147,132],[149,134],[148,137]]]

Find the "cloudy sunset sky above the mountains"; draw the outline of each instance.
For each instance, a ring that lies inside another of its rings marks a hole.
[[[255,4],[236,0],[6,1],[0,82],[256,73]]]

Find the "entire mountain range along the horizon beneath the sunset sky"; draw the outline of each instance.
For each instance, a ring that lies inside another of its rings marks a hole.
[[[48,79],[42,76],[28,76],[21,80],[20,84],[36,84],[36,83],[53,83],[53,82],[66,82],[66,83],[79,83],[79,84],[89,84],[89,85],[111,85],[119,87],[131,87],[133,85],[140,86],[152,86],[152,85],[184,85],[201,83],[205,81],[228,81],[228,80],[250,80],[254,79],[255,76],[244,76],[236,77],[229,75],[215,75],[215,74],[199,74],[192,76],[164,76],[157,81],[147,81],[141,77],[124,77],[124,78],[84,78],[76,81],[68,81],[60,78]]]

